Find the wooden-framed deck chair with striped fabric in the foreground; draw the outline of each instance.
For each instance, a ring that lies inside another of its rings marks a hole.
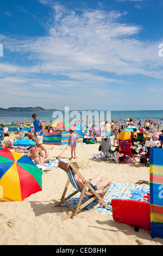
[[[84,187],[83,190],[81,191],[80,188],[78,187],[76,180],[74,179],[73,176],[73,172],[72,169],[75,173],[77,173],[77,175],[84,181]],[[69,214],[67,217],[65,217],[62,221],[67,220],[68,218],[71,218],[73,215],[76,216],[78,214],[79,210],[82,210],[86,205],[90,204],[93,200],[95,200],[96,198],[98,198],[98,200],[100,200],[100,202],[105,206],[105,208],[108,208],[108,204],[104,201],[104,199],[101,198],[101,196],[92,188],[92,186],[89,184],[89,181],[87,181],[83,175],[79,172],[79,170],[74,166],[73,163],[70,163],[70,168],[68,168],[67,171],[65,171],[68,177],[64,192],[62,193],[62,197],[60,199],[60,202],[57,202],[54,206],[57,208],[59,205],[65,203],[68,208],[71,210],[71,214]],[[74,191],[73,193],[71,193],[70,195],[66,196],[66,192],[68,189],[69,185],[72,185],[76,191]],[[88,197],[89,199],[86,200],[86,202],[82,203],[82,199],[84,197],[84,193],[86,190],[86,187],[89,187],[90,190],[93,192],[94,196]],[[110,186],[105,187],[104,191],[108,191],[110,188]],[[81,192],[79,200],[78,200],[78,204],[76,206],[76,208],[73,208],[72,205],[70,205],[70,203],[67,202],[68,199],[70,199],[71,197],[73,197],[75,194],[77,194],[78,192]],[[54,208],[53,206],[53,208]]]

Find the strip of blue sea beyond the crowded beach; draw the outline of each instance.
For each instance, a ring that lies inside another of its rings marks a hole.
[[[109,113],[109,114],[108,114]],[[0,113],[0,124],[10,124],[12,121],[29,123],[33,121],[32,112],[5,112]],[[127,118],[135,120],[135,124],[141,121],[144,124],[146,119],[151,119],[155,123],[163,126],[163,110],[142,110],[142,111],[55,111],[55,112],[38,112],[37,117],[44,121],[45,124],[52,124],[57,120],[66,121],[70,124],[99,123],[106,119],[120,120],[120,124]],[[94,114],[94,115],[93,115]],[[161,124],[162,123],[162,124]]]

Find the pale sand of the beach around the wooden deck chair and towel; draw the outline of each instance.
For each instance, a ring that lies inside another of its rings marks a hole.
[[[45,145],[47,149],[51,145]],[[145,164],[108,162],[91,159],[99,154],[99,144],[78,143],[77,160],[80,173],[86,179],[101,173],[112,181],[134,185],[139,180],[149,181],[149,167]],[[65,149],[65,145],[53,145],[48,150],[55,160]],[[61,155],[69,160],[71,148],[67,147]],[[74,160],[72,160],[73,162]],[[23,202],[1,202],[0,244],[1,245],[162,245],[160,238],[152,239],[150,231],[115,222],[112,216],[97,210],[82,210],[68,220],[61,221],[68,208],[53,208],[60,199],[67,181],[64,170],[53,167],[42,174],[42,191],[32,194]],[[71,188],[73,191],[73,188]],[[70,189],[70,192],[71,192]]]

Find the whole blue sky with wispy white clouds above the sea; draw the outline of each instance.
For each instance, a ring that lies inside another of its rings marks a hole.
[[[162,0],[3,1],[0,107],[163,109],[162,13]]]

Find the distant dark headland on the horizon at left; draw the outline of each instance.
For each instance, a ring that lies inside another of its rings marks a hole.
[[[2,112],[53,112],[58,111],[58,109],[45,109],[42,107],[9,107],[9,108],[0,108],[0,113]]]

